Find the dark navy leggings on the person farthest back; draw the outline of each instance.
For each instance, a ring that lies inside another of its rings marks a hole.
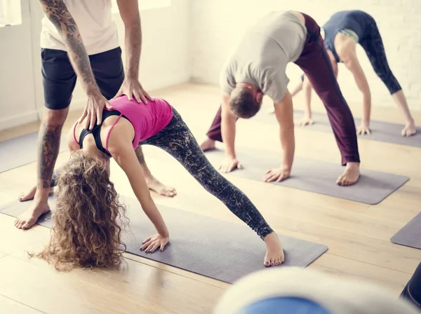
[[[389,90],[389,93],[394,93],[401,90],[398,80],[392,73],[387,62],[385,53],[385,46],[383,46],[382,36],[380,36],[379,29],[373,18],[370,18],[370,32],[360,40],[359,44],[366,51],[368,60],[375,71],[375,74],[385,83],[385,86]]]

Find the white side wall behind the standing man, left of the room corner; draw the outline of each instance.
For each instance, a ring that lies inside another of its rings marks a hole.
[[[172,0],[170,7],[140,12],[143,31],[140,81],[147,91],[189,79],[188,6],[189,0]],[[36,121],[36,111],[41,113],[44,109],[39,48],[42,17],[39,1],[30,1],[29,12],[29,0],[22,0],[22,25],[0,27],[0,130]],[[123,48],[123,22],[119,15],[115,20]],[[71,109],[84,104],[85,96],[78,83]]]

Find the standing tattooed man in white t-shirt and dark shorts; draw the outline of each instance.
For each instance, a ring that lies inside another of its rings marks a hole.
[[[33,205],[15,220],[17,228],[28,229],[48,212],[48,193],[60,147],[72,93],[79,78],[88,97],[79,119],[92,130],[102,122],[107,100],[125,94],[147,106],[151,97],[139,82],[142,28],[138,0],[116,0],[125,26],[126,75],[111,0],[39,0],[44,10],[41,32],[41,59],[45,109],[39,131],[38,181],[36,189],[20,196],[34,198]],[[164,186],[149,172],[140,146],[136,149],[149,189],[175,196],[175,189]]]

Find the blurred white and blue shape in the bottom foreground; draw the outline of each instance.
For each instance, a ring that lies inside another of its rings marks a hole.
[[[370,282],[289,266],[256,271],[234,282],[213,311],[213,314],[356,313],[420,314],[420,310]]]

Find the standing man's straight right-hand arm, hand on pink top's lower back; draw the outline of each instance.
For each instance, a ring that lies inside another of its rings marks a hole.
[[[152,98],[143,90],[139,82],[140,53],[142,51],[142,26],[138,0],[117,0],[121,20],[125,27],[124,46],[126,50],[126,78],[115,97],[127,95],[138,102],[147,103]]]

